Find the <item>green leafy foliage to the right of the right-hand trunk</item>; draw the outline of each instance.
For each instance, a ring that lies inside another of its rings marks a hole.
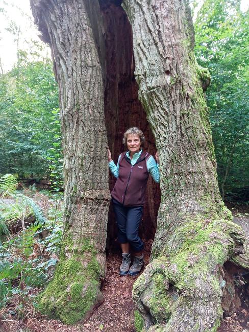
[[[248,32],[240,0],[206,0],[195,21],[195,55],[212,77],[207,103],[221,194],[241,200],[249,186]]]

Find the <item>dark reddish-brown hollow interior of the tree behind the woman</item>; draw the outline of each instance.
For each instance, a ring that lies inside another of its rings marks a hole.
[[[155,155],[155,138],[148,125],[146,114],[138,100],[138,86],[134,77],[132,28],[121,7],[121,1],[99,1],[104,22],[105,40],[105,116],[108,143],[114,162],[124,151],[122,137],[129,127],[140,128],[146,137],[145,150]],[[110,174],[112,190],[115,178]],[[157,212],[160,204],[160,186],[150,177],[147,184],[146,206],[140,225],[140,236],[154,239]],[[116,238],[115,218],[110,206],[107,248],[113,247]],[[114,245],[115,247],[115,245]]]

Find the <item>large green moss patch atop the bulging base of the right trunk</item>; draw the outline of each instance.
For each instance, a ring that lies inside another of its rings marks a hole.
[[[233,243],[228,242],[229,234],[223,230],[223,220],[195,219],[176,229],[165,246],[171,266],[165,268],[165,274],[178,290],[194,288],[196,278],[213,274],[217,264],[222,265],[233,250]],[[172,245],[175,245],[175,251],[170,251]],[[216,292],[220,292],[218,280],[212,282]]]

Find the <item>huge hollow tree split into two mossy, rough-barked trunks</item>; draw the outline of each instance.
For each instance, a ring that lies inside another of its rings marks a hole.
[[[162,195],[151,263],[133,289],[137,328],[216,330],[228,287],[223,265],[230,260],[248,268],[248,259],[241,229],[229,221],[218,191],[203,94],[210,77],[193,55],[187,1],[31,0],[31,6],[54,58],[65,176],[60,263],[40,295],[40,310],[73,323],[102,300],[110,199],[107,141],[112,144],[118,136],[113,130],[126,129],[120,121],[129,116],[125,105],[133,109],[131,97],[119,95],[136,91],[135,59],[141,102],[136,105],[146,112],[155,137]],[[123,38],[117,34],[122,24]],[[132,33],[134,57],[124,48]],[[120,58],[118,65],[119,53],[129,60]],[[121,114],[112,113],[121,103]]]

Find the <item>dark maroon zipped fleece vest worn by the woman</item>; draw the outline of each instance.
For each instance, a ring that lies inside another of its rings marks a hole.
[[[119,175],[111,196],[124,206],[141,206],[145,204],[145,191],[148,180],[146,160],[151,155],[141,153],[132,166],[131,159],[122,153],[119,160]]]

